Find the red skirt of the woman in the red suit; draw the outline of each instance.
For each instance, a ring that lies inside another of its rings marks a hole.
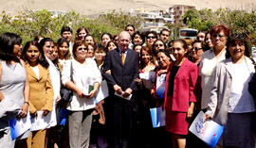
[[[173,134],[188,135],[189,120],[187,112],[173,111],[172,98],[169,96],[166,100],[166,105],[165,129]]]

